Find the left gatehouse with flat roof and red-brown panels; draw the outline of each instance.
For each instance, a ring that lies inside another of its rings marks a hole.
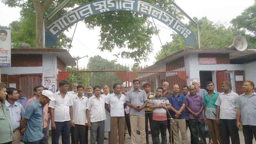
[[[33,87],[43,85],[55,92],[58,72],[76,65],[66,49],[11,49],[11,67],[1,68],[1,82],[22,90],[30,98]]]

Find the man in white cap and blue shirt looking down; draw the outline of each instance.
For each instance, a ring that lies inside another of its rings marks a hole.
[[[21,129],[26,127],[22,139],[25,144],[47,143],[43,134],[43,107],[54,100],[51,91],[43,90],[41,96],[27,106],[20,126]]]

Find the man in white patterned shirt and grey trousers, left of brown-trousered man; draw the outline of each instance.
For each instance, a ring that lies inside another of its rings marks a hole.
[[[100,86],[94,87],[94,96],[90,97],[87,105],[88,127],[91,127],[91,144],[104,143],[104,121],[105,113],[105,97],[100,95]]]

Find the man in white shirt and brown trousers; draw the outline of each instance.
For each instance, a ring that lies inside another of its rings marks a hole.
[[[113,85],[114,92],[107,97],[105,108],[111,115],[111,144],[117,144],[117,129],[119,134],[119,144],[124,144],[124,103],[126,97],[121,94],[121,84]],[[110,105],[110,109],[108,107]]]

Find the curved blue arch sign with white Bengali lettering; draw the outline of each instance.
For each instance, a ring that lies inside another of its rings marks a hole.
[[[180,34],[185,40],[186,46],[197,46],[193,31],[184,23],[168,12],[140,0],[97,0],[76,7],[46,28],[45,45],[56,46],[57,36],[66,28],[90,16],[109,11],[133,11],[154,17]]]

